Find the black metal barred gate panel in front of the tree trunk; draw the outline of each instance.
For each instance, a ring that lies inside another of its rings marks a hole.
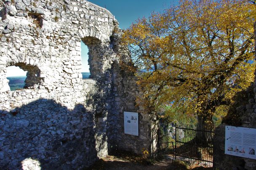
[[[213,129],[199,130],[194,125],[175,128],[175,159],[204,167],[213,166]]]

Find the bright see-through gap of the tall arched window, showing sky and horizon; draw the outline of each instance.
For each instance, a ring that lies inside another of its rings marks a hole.
[[[83,41],[81,41],[81,62],[82,62],[82,76],[83,76],[83,79],[85,78],[89,78],[90,76],[90,66],[88,64],[88,53],[89,53],[89,50],[88,50],[88,47],[87,45],[85,45],[85,43]]]

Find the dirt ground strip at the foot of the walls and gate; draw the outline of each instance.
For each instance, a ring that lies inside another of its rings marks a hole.
[[[134,155],[118,155],[107,156],[85,170],[213,170],[213,168],[189,166],[182,161],[173,160],[170,156],[150,162]]]

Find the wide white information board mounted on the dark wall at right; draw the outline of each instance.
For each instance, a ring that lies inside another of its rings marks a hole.
[[[256,129],[226,126],[225,154],[256,160]]]

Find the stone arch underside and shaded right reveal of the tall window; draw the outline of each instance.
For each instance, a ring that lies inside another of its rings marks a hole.
[[[90,78],[99,78],[101,65],[101,40],[95,37],[82,38],[83,43],[88,47],[88,65]]]

